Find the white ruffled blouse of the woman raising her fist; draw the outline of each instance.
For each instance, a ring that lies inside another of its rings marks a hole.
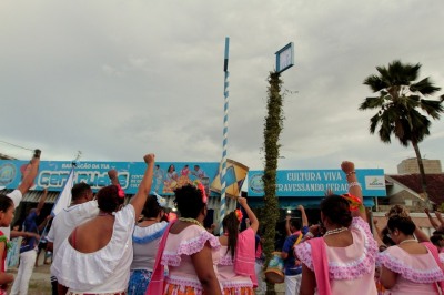
[[[114,272],[125,271],[127,265],[129,272],[133,228],[134,208],[129,204],[115,214],[111,240],[103,248],[81,253],[70,245],[68,238],[64,240],[51,265],[52,274],[62,285],[89,291],[103,284]]]

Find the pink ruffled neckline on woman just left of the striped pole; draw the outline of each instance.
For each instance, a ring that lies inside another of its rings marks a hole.
[[[162,255],[162,265],[179,266],[181,263],[181,255],[192,255],[200,252],[206,242],[213,250],[219,250],[221,243],[219,240],[206,232],[205,228],[198,225],[190,225],[181,233],[182,240],[175,251],[164,251]],[[167,242],[168,243],[168,242]]]

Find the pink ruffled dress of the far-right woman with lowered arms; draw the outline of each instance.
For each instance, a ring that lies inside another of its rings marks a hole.
[[[410,254],[392,246],[382,252],[379,260],[387,269],[398,274],[389,294],[438,294],[436,283],[444,281],[444,274],[430,252]]]

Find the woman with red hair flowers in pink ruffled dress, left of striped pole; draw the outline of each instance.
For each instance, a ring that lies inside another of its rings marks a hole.
[[[174,194],[180,217],[162,236],[147,294],[221,295],[215,274],[221,245],[202,225],[206,216],[205,187],[186,184]]]

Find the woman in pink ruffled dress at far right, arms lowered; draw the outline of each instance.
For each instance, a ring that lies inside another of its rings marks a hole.
[[[380,256],[380,279],[390,289],[389,294],[441,294],[444,274],[437,248],[430,242],[418,243],[414,238],[416,226],[410,216],[393,215],[387,227],[391,238],[397,244]],[[424,240],[421,235],[417,237]]]

